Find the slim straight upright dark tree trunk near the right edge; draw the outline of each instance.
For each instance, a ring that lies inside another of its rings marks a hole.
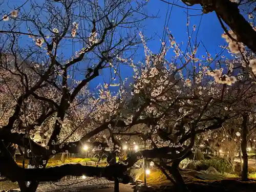
[[[248,115],[243,115],[243,124],[242,124],[242,142],[241,142],[241,151],[243,154],[243,170],[242,170],[242,180],[246,181],[248,180],[248,155],[247,155],[247,135],[248,135],[248,129],[247,129],[247,120]]]

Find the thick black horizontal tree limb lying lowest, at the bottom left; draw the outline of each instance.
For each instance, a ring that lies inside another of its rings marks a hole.
[[[81,164],[66,164],[50,168],[32,168],[24,169],[19,167],[15,162],[8,162],[4,157],[0,158],[1,172],[6,175],[12,182],[15,181],[57,181],[67,175],[89,177],[105,177],[109,180],[114,178],[122,179],[123,183],[128,183],[129,176],[123,173],[126,166],[122,164],[110,165],[107,167],[83,166]]]

